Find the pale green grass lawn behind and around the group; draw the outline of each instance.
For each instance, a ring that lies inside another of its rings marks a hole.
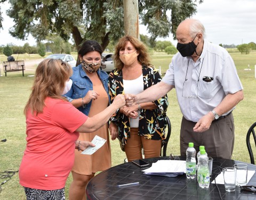
[[[232,52],[230,55],[234,59],[238,75],[244,87],[244,100],[236,106],[233,112],[236,129],[235,147],[232,158],[234,160],[250,162],[245,137],[251,124],[256,121],[256,79],[254,77],[256,52],[251,52],[249,55]],[[30,56],[19,55],[19,58],[21,60],[22,58],[23,60],[41,59],[39,55]],[[16,59],[16,56],[14,57]],[[172,56],[157,53],[151,55],[151,58],[152,64],[157,69],[161,66],[162,74],[164,75]],[[0,61],[6,61],[6,56],[0,55]],[[251,70],[244,70],[248,68],[248,65],[250,65]],[[3,75],[2,65],[0,68]],[[0,77],[0,140],[7,139],[5,143],[0,142],[0,172],[5,170],[19,170],[23,151],[26,146],[26,123],[23,108],[28,100],[30,88],[34,81],[34,77],[28,77],[32,74],[34,74],[33,71],[25,70],[25,77],[22,77],[21,72],[12,72],[8,73],[7,77],[4,77],[4,75]],[[168,96],[170,105],[167,115],[172,124],[172,133],[167,147],[167,154],[179,155],[179,135],[182,115],[177,103],[175,90],[171,90]],[[111,141],[111,151],[113,166],[122,164],[125,159],[125,153],[121,151],[118,140]],[[71,179],[71,176],[69,176],[66,184],[67,199]],[[4,180],[6,179],[0,179],[0,183]],[[0,199],[2,200],[26,199],[23,188],[19,185],[17,173],[1,187]]]

